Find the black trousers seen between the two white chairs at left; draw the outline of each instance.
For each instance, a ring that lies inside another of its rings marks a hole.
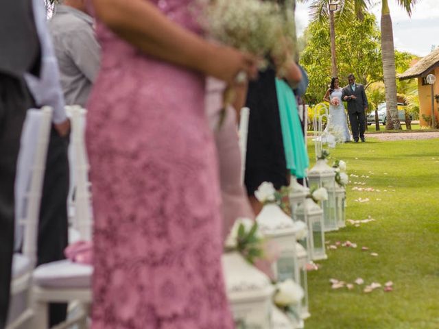
[[[69,137],[52,127],[47,149],[46,171],[38,223],[38,265],[64,259],[67,247],[67,194],[69,193]],[[67,304],[50,304],[49,322],[66,319]]]

